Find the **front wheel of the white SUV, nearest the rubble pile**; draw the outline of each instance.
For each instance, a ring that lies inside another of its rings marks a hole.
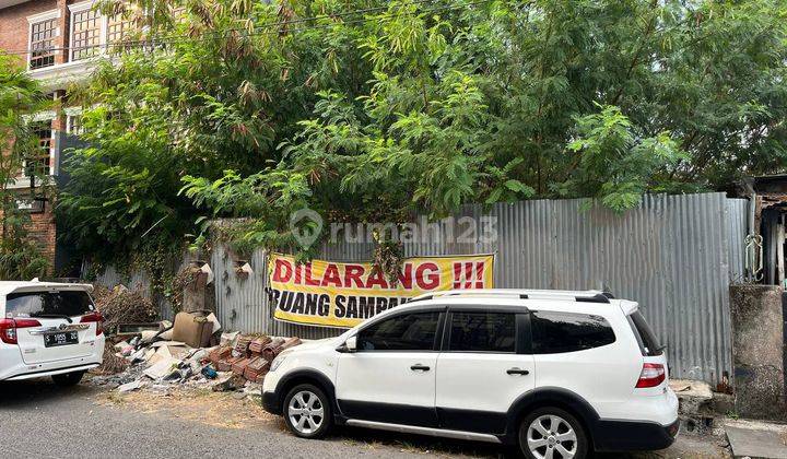
[[[330,399],[310,384],[295,386],[287,392],[282,415],[290,432],[301,438],[322,438],[333,424]]]

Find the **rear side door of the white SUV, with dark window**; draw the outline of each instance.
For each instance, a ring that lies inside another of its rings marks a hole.
[[[437,357],[441,426],[503,434],[517,398],[535,387],[528,316],[516,310],[455,309]]]

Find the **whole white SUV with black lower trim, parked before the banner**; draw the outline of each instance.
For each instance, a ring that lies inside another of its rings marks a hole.
[[[451,291],[282,352],[262,403],[333,424],[517,445],[530,458],[668,447],[667,360],[637,304],[601,292]]]

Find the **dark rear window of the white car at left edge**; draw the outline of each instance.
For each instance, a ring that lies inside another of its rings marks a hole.
[[[93,310],[87,292],[24,292],[5,296],[5,317],[77,317]]]

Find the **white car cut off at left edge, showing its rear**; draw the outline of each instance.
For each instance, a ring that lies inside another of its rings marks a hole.
[[[51,376],[78,384],[101,365],[103,318],[92,285],[0,282],[0,381]]]

